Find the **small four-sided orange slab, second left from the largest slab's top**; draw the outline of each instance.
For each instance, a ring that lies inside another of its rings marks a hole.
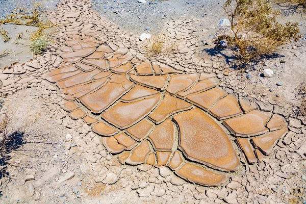
[[[130,127],[126,132],[131,135],[138,142],[142,141],[148,136],[154,125],[147,120],[141,120],[136,125]]]

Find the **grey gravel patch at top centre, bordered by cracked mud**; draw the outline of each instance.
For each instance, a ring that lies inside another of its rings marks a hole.
[[[207,16],[215,18],[218,25],[223,14],[222,1],[210,0],[170,0],[146,1],[138,3],[137,0],[92,0],[93,8],[105,18],[108,18],[120,27],[136,34],[149,32],[158,34],[166,21],[181,17],[192,19],[206,19]]]

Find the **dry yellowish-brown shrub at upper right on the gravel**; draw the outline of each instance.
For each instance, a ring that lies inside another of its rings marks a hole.
[[[224,10],[231,22],[233,50],[243,63],[259,60],[301,37],[298,23],[279,23],[279,11],[267,0],[227,0]]]

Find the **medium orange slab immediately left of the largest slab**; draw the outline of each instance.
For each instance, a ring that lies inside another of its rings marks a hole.
[[[174,126],[170,119],[156,126],[148,138],[155,150],[171,151],[174,143]]]

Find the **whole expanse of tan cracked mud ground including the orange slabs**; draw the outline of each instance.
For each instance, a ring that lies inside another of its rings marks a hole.
[[[202,19],[165,20],[171,49],[151,55],[89,1],[63,1],[48,17],[55,43],[1,69],[1,113],[22,141],[3,164],[1,202],[305,201],[305,118],[292,114],[304,38],[247,81],[226,68],[228,50],[201,51],[223,32]],[[266,67],[273,78],[260,77]]]

